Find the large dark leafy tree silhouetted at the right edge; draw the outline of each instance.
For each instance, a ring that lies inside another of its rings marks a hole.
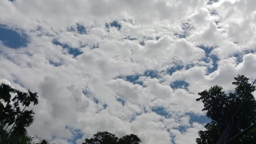
[[[198,144],[224,143],[256,122],[256,101],[252,94],[255,86],[243,75],[235,77],[232,84],[236,88],[229,94],[222,91],[222,87],[218,85],[198,93],[200,98],[196,100],[204,103],[202,110],[206,111],[206,116],[211,119],[211,122],[204,126],[206,130],[198,132]],[[232,143],[250,144],[255,141],[255,133],[245,133]]]

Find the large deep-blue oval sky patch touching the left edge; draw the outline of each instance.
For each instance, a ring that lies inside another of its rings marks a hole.
[[[23,31],[17,31],[6,25],[0,25],[0,41],[12,49],[26,47],[28,44],[28,36]]]

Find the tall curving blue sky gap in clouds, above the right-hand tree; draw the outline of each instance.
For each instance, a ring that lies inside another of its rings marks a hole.
[[[210,61],[212,61],[212,67],[208,67],[207,68],[207,74],[212,73],[213,71],[218,69],[218,61],[219,58],[217,55],[215,54],[211,54],[213,47],[207,47],[204,45],[198,45],[197,47],[199,47],[200,49],[203,49],[205,52],[205,58],[203,58],[202,60],[209,63]]]

